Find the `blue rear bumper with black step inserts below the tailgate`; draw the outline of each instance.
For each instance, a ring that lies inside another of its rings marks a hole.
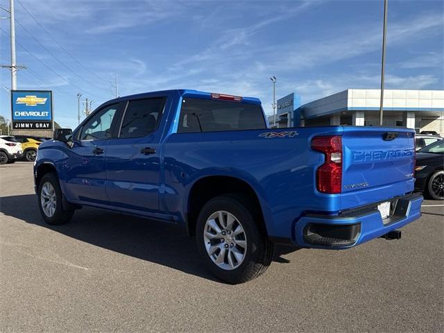
[[[293,239],[305,248],[350,248],[402,228],[421,216],[422,196],[408,194],[392,198],[391,213],[382,219],[373,203],[339,215],[307,214],[294,225]]]

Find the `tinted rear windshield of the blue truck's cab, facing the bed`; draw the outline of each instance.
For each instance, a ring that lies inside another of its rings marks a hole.
[[[185,98],[182,101],[178,133],[265,128],[260,105],[208,99]]]

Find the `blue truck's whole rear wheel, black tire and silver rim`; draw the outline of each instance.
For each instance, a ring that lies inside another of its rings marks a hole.
[[[219,196],[204,205],[196,224],[196,240],[205,264],[230,284],[247,282],[271,263],[273,244],[260,214],[237,196]]]

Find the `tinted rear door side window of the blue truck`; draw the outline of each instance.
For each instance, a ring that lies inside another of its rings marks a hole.
[[[165,99],[130,101],[123,117],[119,137],[145,137],[157,128],[164,110]]]

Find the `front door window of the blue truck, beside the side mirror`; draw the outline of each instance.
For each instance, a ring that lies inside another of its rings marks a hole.
[[[111,137],[111,124],[119,104],[107,106],[94,114],[85,123],[80,134],[80,140],[109,139]]]

